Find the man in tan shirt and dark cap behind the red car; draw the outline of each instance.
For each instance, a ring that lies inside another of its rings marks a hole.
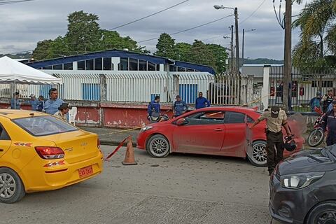
[[[286,112],[281,110],[279,106],[272,106],[270,110],[266,110],[262,113],[251,125],[251,128],[262,120],[266,120],[267,167],[269,174],[272,174],[275,166],[283,159],[282,126],[285,128],[288,136],[290,136],[290,130],[287,123]],[[274,147],[276,147],[276,150]]]

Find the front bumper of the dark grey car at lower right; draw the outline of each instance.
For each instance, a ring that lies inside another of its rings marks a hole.
[[[282,188],[279,179],[272,174],[269,181],[269,212],[275,220],[283,223],[303,223],[309,209],[316,203],[316,197],[309,188]]]

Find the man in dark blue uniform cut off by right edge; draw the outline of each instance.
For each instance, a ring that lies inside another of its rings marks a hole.
[[[325,132],[328,127],[327,146],[336,144],[336,101],[332,103],[332,110],[325,113],[322,118],[322,128]]]

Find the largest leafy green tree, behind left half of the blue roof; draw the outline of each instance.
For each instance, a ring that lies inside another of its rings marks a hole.
[[[100,29],[98,20],[97,15],[84,13],[83,10],[71,13],[68,16],[68,31],[65,36],[58,36],[55,40],[39,41],[33,51],[34,59],[50,59],[98,50],[124,48],[148,53],[130,36],[121,37],[117,31]]]

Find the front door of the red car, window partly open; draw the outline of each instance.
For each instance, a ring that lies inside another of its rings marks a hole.
[[[223,111],[195,112],[184,119],[186,124],[174,127],[176,151],[212,154],[221,150],[225,135]]]

